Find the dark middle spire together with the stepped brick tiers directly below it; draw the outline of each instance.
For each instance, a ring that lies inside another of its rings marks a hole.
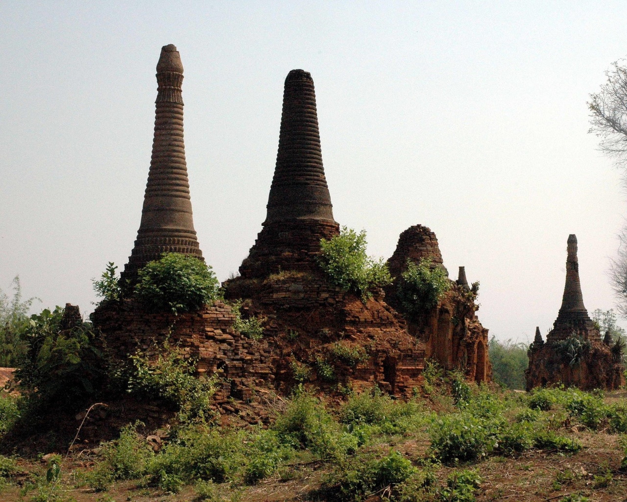
[[[240,267],[245,279],[280,270],[308,272],[320,239],[339,233],[322,166],[314,80],[303,70],[292,70],[285,79],[267,210],[263,230]]]

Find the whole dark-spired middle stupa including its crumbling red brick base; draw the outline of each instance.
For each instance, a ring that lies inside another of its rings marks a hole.
[[[301,378],[294,368],[305,368],[305,383],[319,388],[378,385],[411,395],[419,385],[424,345],[383,301],[383,291],[363,301],[332,284],[318,265],[320,240],[339,235],[339,225],[322,164],[314,81],[303,70],[285,79],[277,164],[262,225],[240,277],[224,287],[226,298],[243,301],[245,316],[265,319],[278,390],[290,390]],[[339,351],[361,356],[349,361]]]

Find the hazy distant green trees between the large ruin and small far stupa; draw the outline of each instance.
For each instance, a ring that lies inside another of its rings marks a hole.
[[[502,342],[492,336],[488,343],[488,356],[495,382],[510,389],[525,389],[525,370],[529,366],[526,344],[511,340]]]

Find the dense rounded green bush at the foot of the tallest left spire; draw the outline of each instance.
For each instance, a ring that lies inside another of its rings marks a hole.
[[[135,296],[156,311],[187,312],[218,299],[219,286],[216,274],[205,262],[166,253],[139,270]]]

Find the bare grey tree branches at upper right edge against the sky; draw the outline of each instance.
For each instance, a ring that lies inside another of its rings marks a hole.
[[[590,129],[601,138],[599,149],[627,169],[627,61],[614,61],[599,92],[590,95]]]

